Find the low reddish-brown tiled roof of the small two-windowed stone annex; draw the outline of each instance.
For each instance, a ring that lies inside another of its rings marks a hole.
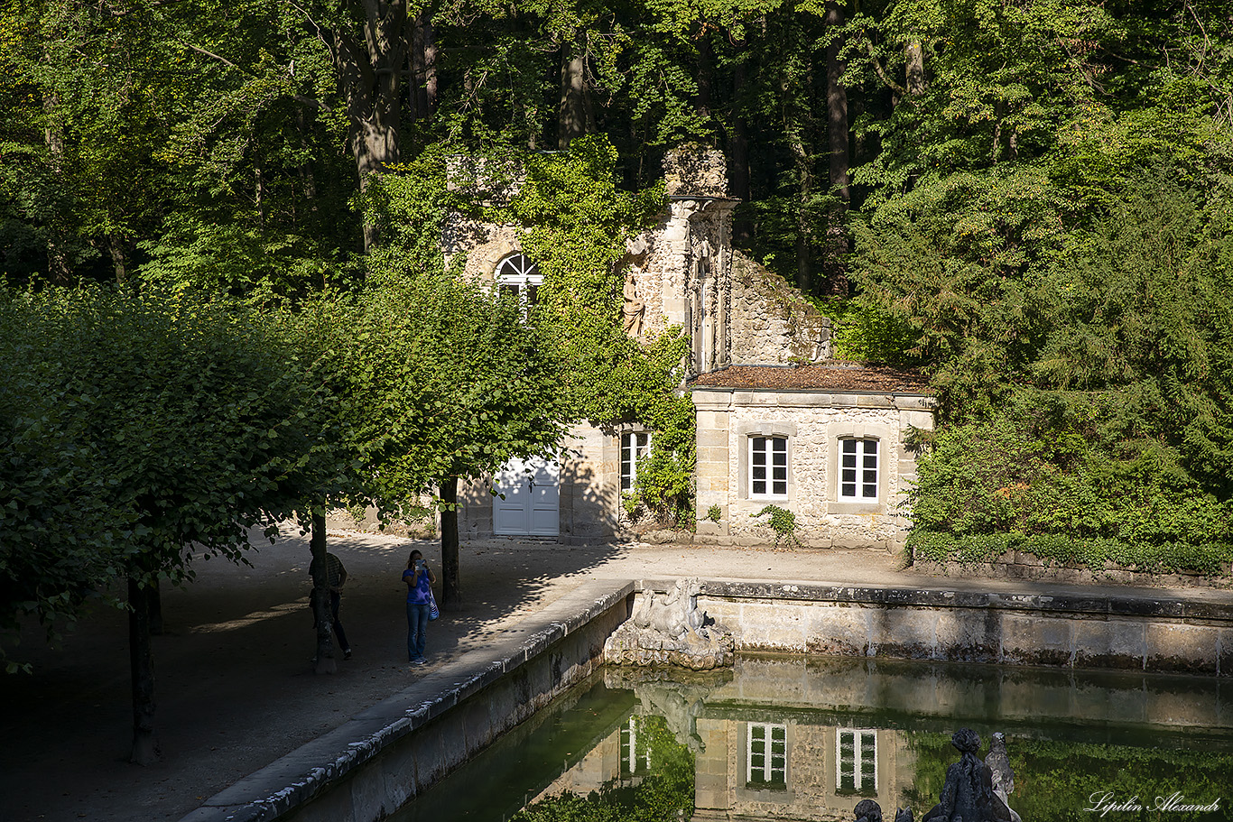
[[[779,391],[874,391],[930,394],[928,380],[915,371],[887,366],[829,362],[821,365],[732,365],[694,378],[694,388],[764,388]]]

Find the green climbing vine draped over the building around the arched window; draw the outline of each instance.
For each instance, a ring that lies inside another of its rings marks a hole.
[[[450,212],[518,226],[524,254],[544,275],[530,319],[556,348],[566,413],[598,426],[636,423],[653,431],[630,509],[692,524],[694,412],[679,392],[688,338],[670,328],[639,341],[619,322],[625,242],[658,214],[662,187],[620,189],[616,150],[602,136],[576,139],[567,152],[461,157],[434,147],[403,174],[369,186],[363,206],[382,233],[370,269],[377,276],[443,270],[434,244]]]

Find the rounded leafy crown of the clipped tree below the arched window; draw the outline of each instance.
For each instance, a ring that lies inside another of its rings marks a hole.
[[[281,319],[335,401],[360,500],[397,511],[561,441],[552,346],[514,299],[453,277],[388,277]]]

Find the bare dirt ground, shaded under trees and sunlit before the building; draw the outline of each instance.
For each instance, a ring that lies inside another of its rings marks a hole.
[[[32,675],[0,675],[0,822],[179,820],[202,800],[351,715],[432,665],[406,663],[402,569],[412,547],[440,569],[439,546],[332,532],[350,579],[342,620],[354,658],[314,675],[308,546],[295,529],[250,553],[253,567],[197,561],[197,579],[163,594],[155,699],[164,759],[127,762],[128,632],[99,610],[58,649],[41,633],[14,657]],[[465,601],[429,629],[430,661],[477,647],[589,578],[699,574],[725,579],[870,582],[895,577],[878,552],[711,548],[679,545],[465,543]]]

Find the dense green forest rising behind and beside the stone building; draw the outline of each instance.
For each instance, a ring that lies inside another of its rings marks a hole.
[[[586,143],[610,159],[593,192],[629,198],[591,198],[616,219],[686,142],[724,150],[737,245],[816,299],[841,356],[931,376],[919,552],[1231,558],[1223,0],[0,12],[0,269],[18,287],[296,306],[438,265],[450,154]]]

